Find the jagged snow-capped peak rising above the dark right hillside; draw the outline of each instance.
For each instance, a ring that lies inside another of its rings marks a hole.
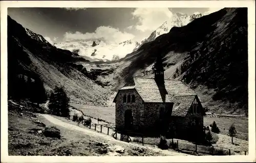
[[[143,43],[154,41],[158,36],[166,34],[172,29],[174,26],[184,26],[187,25],[189,22],[195,20],[196,18],[202,17],[202,14],[183,14],[183,13],[176,13],[170,18],[169,20],[165,21],[159,28],[151,33],[151,35],[142,40],[140,45],[136,46],[133,51],[137,50]]]

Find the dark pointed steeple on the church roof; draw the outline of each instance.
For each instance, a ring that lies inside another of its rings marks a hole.
[[[155,80],[159,85],[164,84],[164,68],[161,56],[157,56],[155,64]]]

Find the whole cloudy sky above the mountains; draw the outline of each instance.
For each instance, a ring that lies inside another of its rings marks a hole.
[[[8,8],[8,15],[50,43],[104,39],[141,41],[173,14],[203,15],[221,8]]]

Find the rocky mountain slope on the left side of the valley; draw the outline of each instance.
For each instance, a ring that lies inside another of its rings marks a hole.
[[[70,102],[102,104],[112,92],[97,85],[72,64],[88,62],[77,53],[59,49],[44,37],[23,28],[8,16],[8,97],[45,98],[55,86],[63,86]],[[38,83],[39,92],[31,91]],[[34,93],[34,94],[32,94]],[[25,95],[28,96],[25,96]]]

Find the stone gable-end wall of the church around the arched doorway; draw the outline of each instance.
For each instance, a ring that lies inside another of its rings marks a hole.
[[[135,95],[135,102],[123,102],[123,96]],[[135,89],[131,90],[119,90],[116,98],[116,129],[124,129],[124,113],[126,110],[131,110],[133,113],[133,129],[134,131],[139,129],[140,126],[140,111],[144,108],[144,103]]]

